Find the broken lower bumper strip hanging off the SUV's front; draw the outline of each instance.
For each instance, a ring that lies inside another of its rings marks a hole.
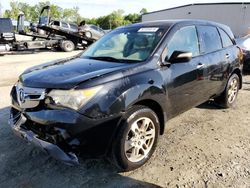
[[[35,146],[39,147],[57,160],[60,160],[69,165],[79,164],[78,158],[74,153],[65,152],[57,145],[38,138],[38,135],[36,135],[31,130],[26,129],[25,126],[23,126],[25,125],[26,121],[27,118],[21,113],[16,115],[15,117],[13,117],[12,114],[10,115],[9,124],[15,135],[22,139],[25,139],[30,143],[33,143]]]

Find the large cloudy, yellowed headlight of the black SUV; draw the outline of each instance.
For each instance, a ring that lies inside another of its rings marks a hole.
[[[102,86],[79,90],[52,90],[48,94],[48,97],[52,99],[52,101],[49,103],[56,106],[68,107],[78,110],[91,98],[93,98],[95,94],[101,89]]]

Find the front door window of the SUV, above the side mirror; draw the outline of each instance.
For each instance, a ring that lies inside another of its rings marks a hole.
[[[195,26],[188,26],[178,30],[168,43],[169,57],[174,51],[192,52],[199,55],[198,37]]]

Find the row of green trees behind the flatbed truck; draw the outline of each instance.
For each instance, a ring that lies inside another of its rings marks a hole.
[[[51,4],[49,1],[38,2],[34,6],[24,2],[11,1],[10,9],[5,10],[4,17],[17,19],[18,15],[22,12],[25,15],[26,21],[37,22],[42,8],[47,5],[50,6],[50,16],[53,20],[62,20],[76,24],[85,20],[86,23],[98,25],[103,29],[114,29],[119,26],[140,22],[142,14],[147,12],[147,10],[143,8],[140,13],[124,15],[124,11],[119,9],[106,16],[88,19],[80,15],[79,7],[77,6],[63,9],[58,5]]]

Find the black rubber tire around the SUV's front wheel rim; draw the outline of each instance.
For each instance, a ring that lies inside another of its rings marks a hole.
[[[124,143],[126,140],[126,136],[128,134],[128,131],[131,128],[132,123],[141,118],[141,117],[147,117],[151,119],[155,125],[155,140],[153,143],[153,146],[148,153],[148,155],[142,159],[139,162],[131,162],[127,159],[125,152],[124,152]],[[116,162],[118,165],[125,171],[136,169],[140,166],[142,166],[146,161],[152,156],[152,154],[155,151],[157,140],[159,136],[159,121],[157,118],[157,115],[149,108],[146,107],[135,107],[132,110],[130,110],[125,116],[123,121],[121,122],[121,125],[119,127],[119,131],[117,134],[117,137],[115,139],[115,147],[114,147],[114,155],[116,158]]]

